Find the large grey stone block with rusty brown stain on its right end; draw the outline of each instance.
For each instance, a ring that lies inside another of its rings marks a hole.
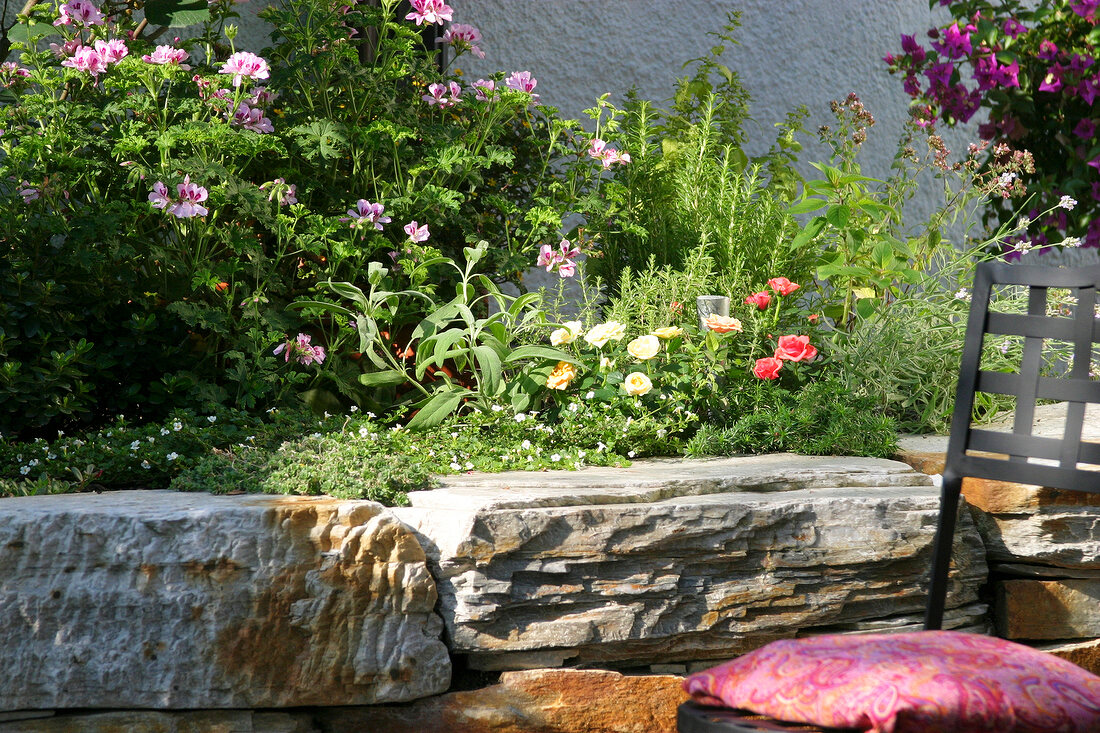
[[[449,685],[424,551],[381,504],[125,491],[0,508],[0,711],[369,704]]]

